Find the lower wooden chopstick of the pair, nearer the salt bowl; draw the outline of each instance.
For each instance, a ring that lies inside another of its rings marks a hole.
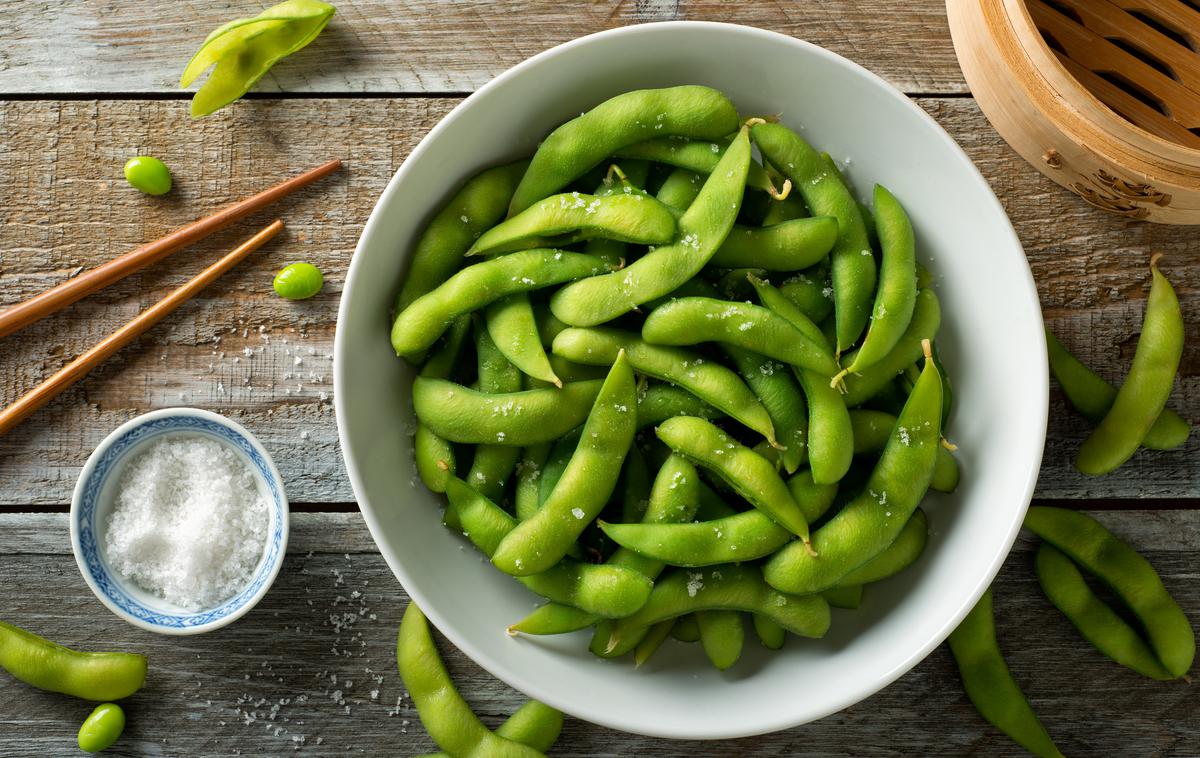
[[[268,240],[283,230],[283,222],[275,221],[254,236],[239,245],[233,252],[216,261],[190,282],[139,313],[132,321],[96,343],[94,348],[71,361],[53,377],[26,392],[20,399],[0,410],[0,435],[25,420],[31,413],[58,397],[64,390],[82,379],[103,360],[133,342],[168,313],[187,302],[193,295],[212,283],[217,277],[238,265]]]

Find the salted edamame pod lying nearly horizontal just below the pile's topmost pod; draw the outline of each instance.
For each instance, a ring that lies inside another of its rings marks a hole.
[[[566,236],[568,243],[604,237],[637,245],[665,245],[674,239],[674,215],[642,193],[569,192],[539,200],[492,227],[475,240],[467,255],[551,247],[546,242],[560,236]]]

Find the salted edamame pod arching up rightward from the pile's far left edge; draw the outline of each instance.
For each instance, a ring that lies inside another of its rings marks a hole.
[[[590,255],[557,249],[521,251],[467,266],[396,314],[391,345],[396,355],[416,355],[432,345],[451,321],[464,313],[478,311],[505,295],[560,284],[604,269]],[[492,337],[496,338],[496,335]],[[500,341],[497,341],[497,347],[504,351]]]

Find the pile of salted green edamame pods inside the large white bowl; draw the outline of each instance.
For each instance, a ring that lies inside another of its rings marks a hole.
[[[548,601],[511,633],[593,627],[638,664],[694,636],[726,668],[745,616],[821,637],[920,555],[959,475],[940,320],[890,192],[868,209],[796,132],[676,86],[469,179],[391,343],[446,525]]]

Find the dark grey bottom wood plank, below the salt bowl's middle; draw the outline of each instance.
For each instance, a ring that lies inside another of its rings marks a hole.
[[[1200,512],[1097,517],[1141,549],[1193,622],[1200,620]],[[186,638],[142,632],[106,612],[79,577],[66,535],[65,515],[0,515],[0,608],[5,620],[62,642],[150,656],[146,688],[127,703],[130,726],[114,754],[413,754],[432,748],[395,673],[395,632],[407,598],[358,515],[293,516],[284,570],[263,603],[224,630]],[[1001,573],[996,604],[1013,673],[1067,754],[1195,754],[1200,688],[1142,679],[1094,652],[1042,596],[1026,539]],[[443,645],[443,652],[487,723],[494,726],[522,702],[456,650]],[[0,754],[68,754],[89,709],[5,680]],[[674,742],[568,720],[553,754],[1025,753],[976,715],[941,648],[883,692],[806,727],[728,742]]]

